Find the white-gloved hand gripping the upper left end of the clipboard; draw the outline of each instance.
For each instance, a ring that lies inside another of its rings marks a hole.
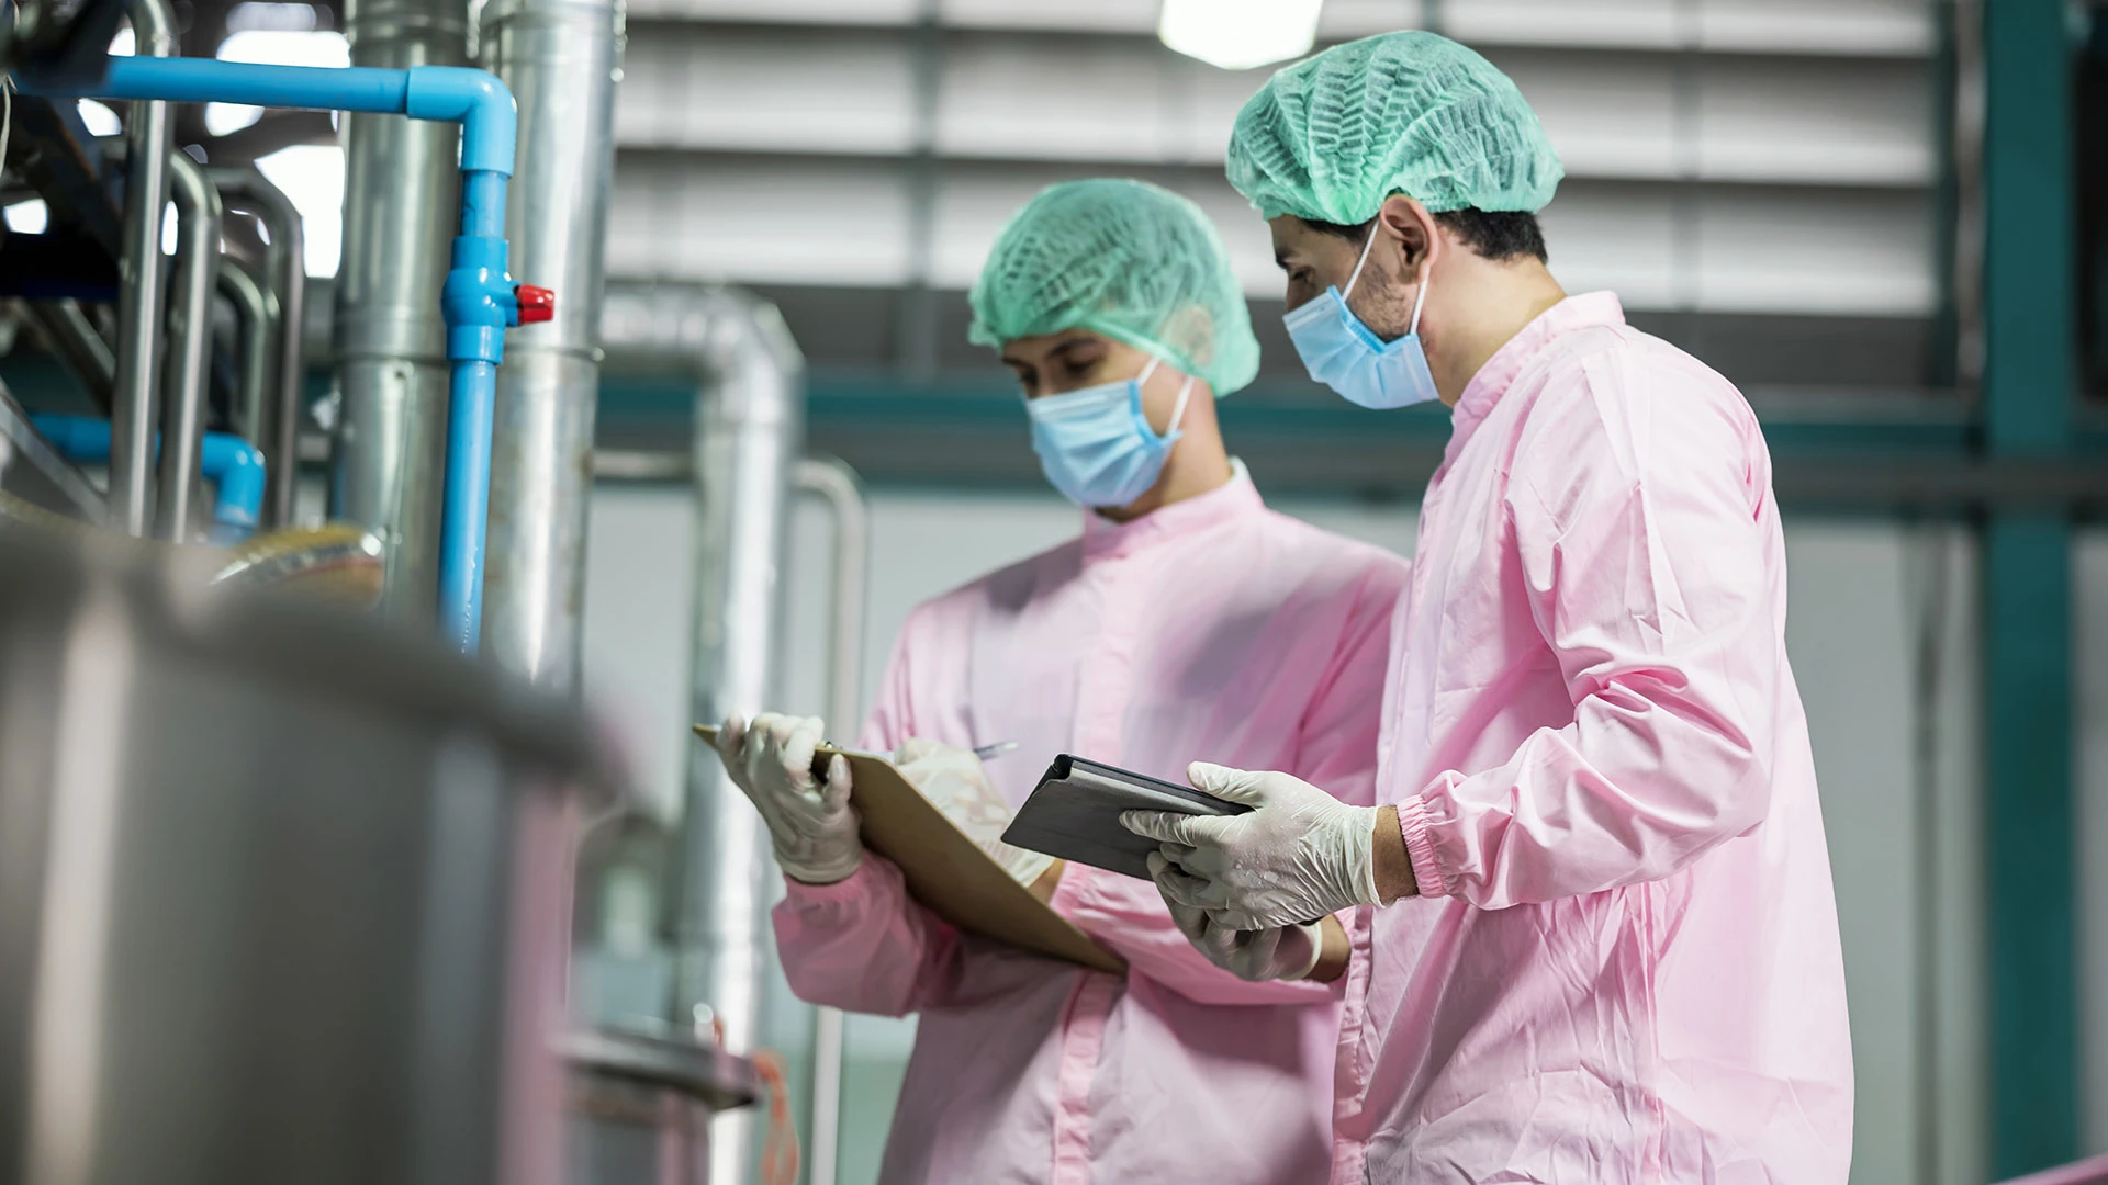
[[[812,776],[824,727],[820,717],[763,713],[753,725],[727,717],[717,732],[725,772],[769,827],[776,865],[809,886],[845,879],[864,860],[860,820],[850,805],[850,763],[841,755],[828,761],[824,786]]]

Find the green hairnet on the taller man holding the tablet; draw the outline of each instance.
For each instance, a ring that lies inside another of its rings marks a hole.
[[[1562,175],[1522,91],[1484,57],[1421,32],[1275,72],[1229,133],[1229,183],[1269,219],[1358,226],[1391,194],[1433,213],[1535,213]]]

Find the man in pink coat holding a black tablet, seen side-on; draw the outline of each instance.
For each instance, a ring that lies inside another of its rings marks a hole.
[[[1535,221],[1558,158],[1455,42],[1282,70],[1229,179],[1273,228],[1311,377],[1452,415],[1385,681],[1387,805],[1221,759],[1193,784],[1252,814],[1128,816],[1225,964],[1381,907],[1332,1181],[1840,1185],[1844,968],[1748,403],[1615,295],[1560,289]]]

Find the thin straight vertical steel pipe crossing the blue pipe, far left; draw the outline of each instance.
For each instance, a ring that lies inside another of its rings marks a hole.
[[[133,53],[175,53],[167,0],[129,0]],[[143,538],[152,525],[156,354],[160,342],[160,217],[169,205],[175,150],[169,103],[135,103],[124,120],[124,259],[118,264],[118,369],[110,403],[116,455],[110,460],[110,525]]]

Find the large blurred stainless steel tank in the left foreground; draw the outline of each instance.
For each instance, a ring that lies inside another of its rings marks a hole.
[[[586,725],[0,531],[0,1181],[554,1185]]]

